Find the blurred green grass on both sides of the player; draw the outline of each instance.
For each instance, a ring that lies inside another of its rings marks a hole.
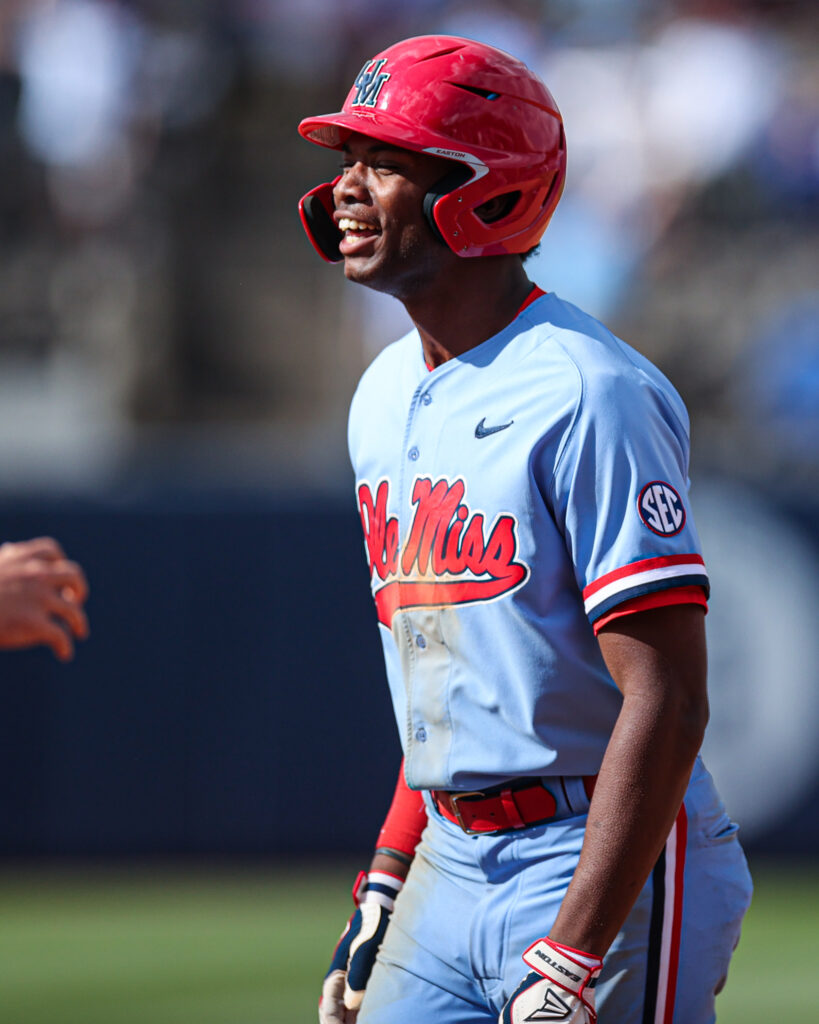
[[[0,1022],[314,1024],[353,874],[6,869]],[[755,876],[720,1024],[811,1020],[819,870]]]

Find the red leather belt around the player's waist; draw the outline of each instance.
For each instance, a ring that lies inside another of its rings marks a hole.
[[[584,776],[584,787],[591,800],[596,775]],[[560,784],[560,777],[555,777]],[[530,777],[513,778],[490,790],[446,793],[433,790],[431,797],[440,813],[468,835],[502,833],[551,821],[557,801],[546,783]]]

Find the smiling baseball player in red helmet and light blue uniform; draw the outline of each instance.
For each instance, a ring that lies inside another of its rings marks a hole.
[[[669,381],[527,279],[555,100],[490,46],[368,59],[301,203],[415,329],[349,447],[403,746],[321,1024],[706,1024],[750,897],[698,757],[708,580]]]

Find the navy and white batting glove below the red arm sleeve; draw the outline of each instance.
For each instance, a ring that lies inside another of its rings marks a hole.
[[[376,953],[403,882],[384,871],[356,879],[357,909],[342,932],[318,1000],[318,1024],[355,1024]]]

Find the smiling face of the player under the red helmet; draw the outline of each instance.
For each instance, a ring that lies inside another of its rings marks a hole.
[[[351,135],[333,196],[350,281],[399,297],[458,257],[434,236],[424,197],[451,163],[429,154]]]

